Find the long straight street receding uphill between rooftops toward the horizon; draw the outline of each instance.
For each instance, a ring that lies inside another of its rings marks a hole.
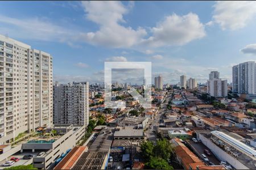
[[[166,97],[163,99],[163,102],[160,104],[161,109],[158,110],[158,113],[155,116],[155,118],[150,120],[150,124],[151,124],[150,127],[152,127],[152,128],[148,128],[148,130],[146,131],[146,134],[148,134],[148,140],[152,141],[154,144],[156,143],[156,136],[155,136],[155,133],[153,132],[153,130],[156,131],[160,122],[163,120],[164,113],[167,111],[166,106],[170,99],[171,99],[171,94],[168,93],[166,95]],[[164,102],[165,100],[166,100],[166,102]]]

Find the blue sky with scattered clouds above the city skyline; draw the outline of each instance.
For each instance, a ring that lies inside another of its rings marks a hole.
[[[0,34],[51,54],[61,83],[102,83],[106,61],[152,62],[164,83],[204,83],[215,70],[230,83],[232,66],[256,61],[255,21],[254,1],[0,2]],[[113,81],[141,83],[140,74]]]

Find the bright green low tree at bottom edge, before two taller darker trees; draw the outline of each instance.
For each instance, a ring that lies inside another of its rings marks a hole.
[[[149,162],[145,164],[146,169],[174,169],[170,166],[167,160],[158,157],[152,157]]]

